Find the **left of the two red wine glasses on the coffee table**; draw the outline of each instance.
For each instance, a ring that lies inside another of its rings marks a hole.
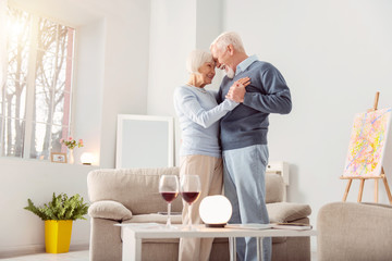
[[[159,178],[159,192],[168,202],[168,221],[167,227],[172,228],[170,211],[171,202],[179,196],[179,178],[176,175],[161,175]]]

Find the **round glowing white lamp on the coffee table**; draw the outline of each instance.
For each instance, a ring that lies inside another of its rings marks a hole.
[[[207,227],[224,227],[232,215],[232,206],[224,196],[208,196],[200,202],[199,214]]]

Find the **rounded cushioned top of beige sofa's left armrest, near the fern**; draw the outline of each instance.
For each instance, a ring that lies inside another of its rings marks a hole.
[[[122,203],[113,200],[101,200],[90,204],[88,214],[91,217],[126,221],[131,220],[132,212]]]

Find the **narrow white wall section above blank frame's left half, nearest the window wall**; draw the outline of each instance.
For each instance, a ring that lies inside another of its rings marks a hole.
[[[107,10],[107,35],[100,166],[113,167],[117,115],[147,113],[150,3],[101,0],[101,4]]]

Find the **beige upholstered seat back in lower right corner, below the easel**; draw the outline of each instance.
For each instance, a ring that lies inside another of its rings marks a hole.
[[[318,261],[392,260],[392,206],[332,202],[317,215]]]

